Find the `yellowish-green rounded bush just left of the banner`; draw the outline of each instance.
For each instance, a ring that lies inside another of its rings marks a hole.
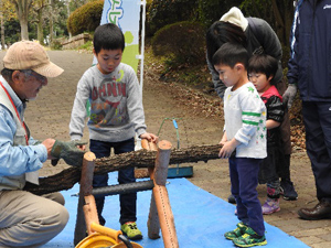
[[[67,20],[67,29],[72,35],[84,32],[94,32],[100,24],[104,1],[88,2],[76,9]]]

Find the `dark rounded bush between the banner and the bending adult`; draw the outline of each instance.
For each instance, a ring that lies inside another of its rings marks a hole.
[[[196,22],[177,22],[159,30],[151,40],[154,55],[175,64],[205,63],[205,30]]]

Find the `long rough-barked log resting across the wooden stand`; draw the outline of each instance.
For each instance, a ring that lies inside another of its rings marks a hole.
[[[196,163],[218,159],[221,145],[194,145],[185,149],[172,149],[169,164]],[[118,171],[119,169],[153,168],[156,151],[139,150],[95,160],[94,174]],[[24,190],[36,195],[72,188],[81,179],[81,169],[68,168],[62,172],[40,179],[40,185],[26,183]]]

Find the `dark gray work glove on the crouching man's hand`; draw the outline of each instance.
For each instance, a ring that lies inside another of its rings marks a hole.
[[[77,145],[86,144],[84,141],[60,141],[55,140],[52,148],[51,155],[55,159],[52,160],[52,165],[56,165],[60,159],[63,159],[68,165],[82,166],[83,157],[85,151],[82,151]]]

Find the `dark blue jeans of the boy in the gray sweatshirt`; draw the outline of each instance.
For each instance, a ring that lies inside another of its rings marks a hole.
[[[135,138],[121,142],[104,142],[99,140],[89,140],[89,150],[95,153],[96,158],[104,158],[110,155],[110,149],[114,148],[115,154],[130,152],[135,150]],[[118,171],[118,183],[132,183],[136,182],[135,168],[122,169]],[[103,187],[108,185],[108,173],[103,175],[95,175],[93,179],[93,187]],[[105,196],[96,196],[96,206],[98,212],[99,222],[105,225],[106,220],[102,216]],[[122,225],[127,222],[137,220],[137,193],[120,194],[120,218],[119,223]]]

